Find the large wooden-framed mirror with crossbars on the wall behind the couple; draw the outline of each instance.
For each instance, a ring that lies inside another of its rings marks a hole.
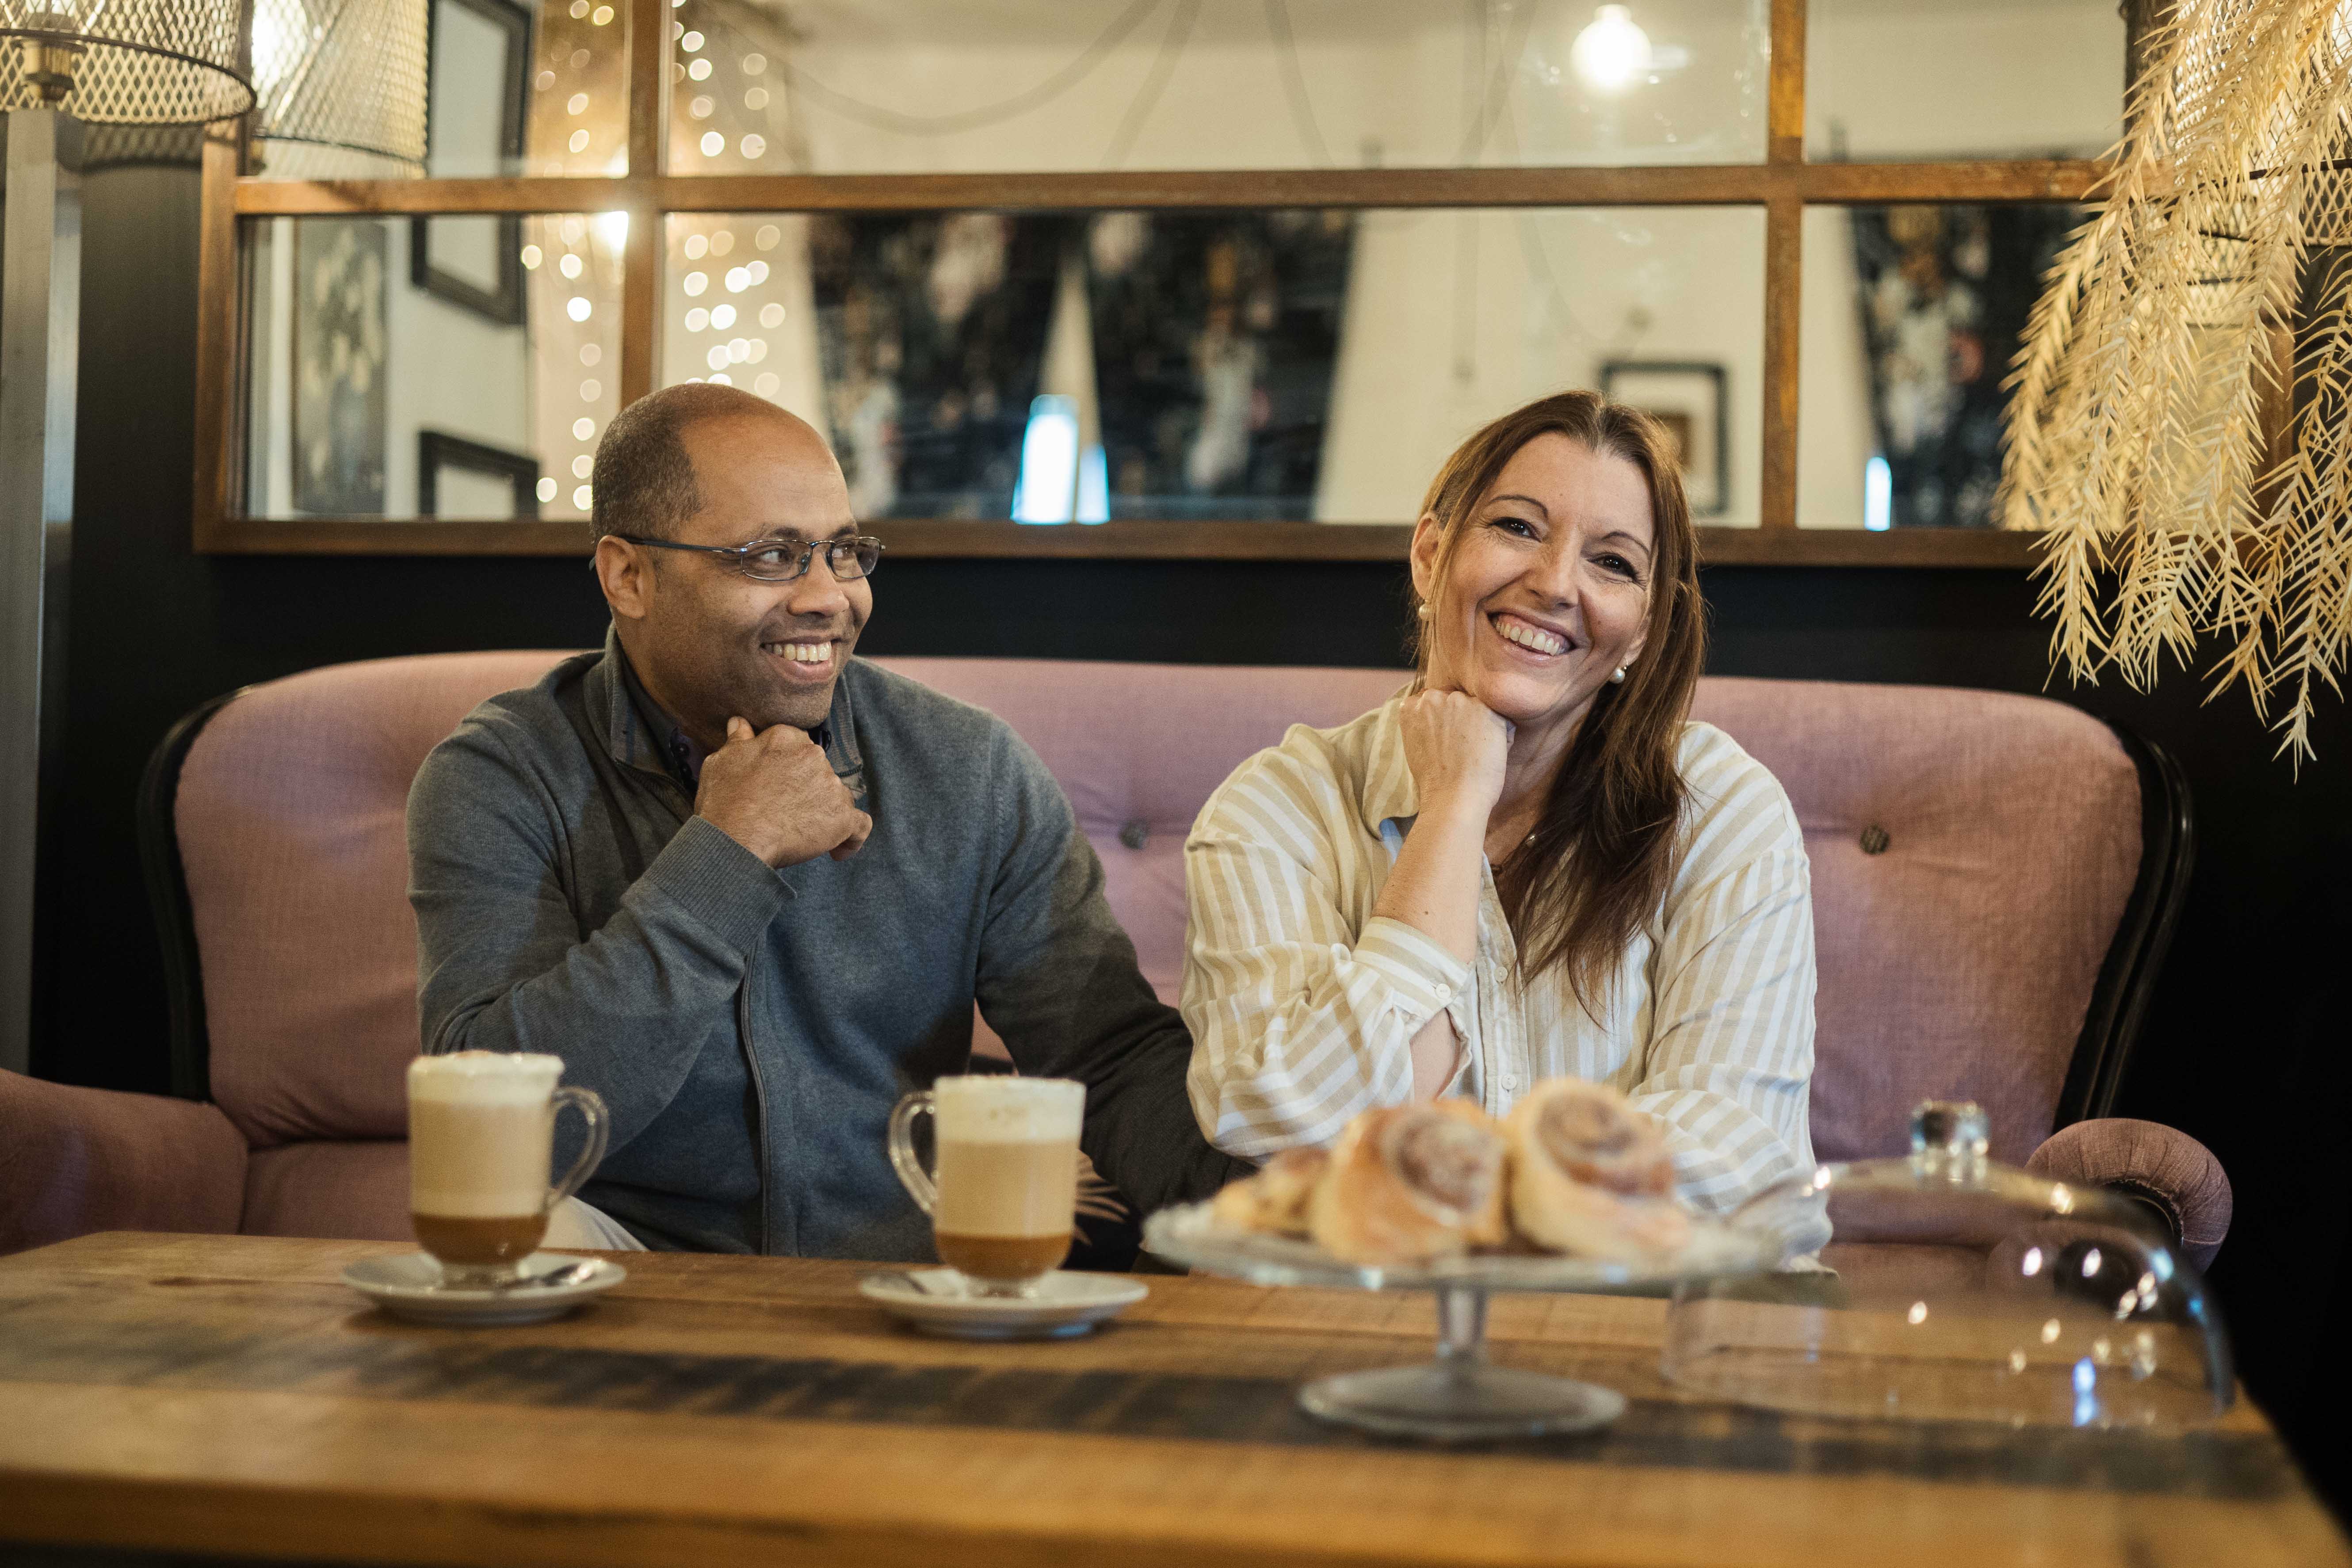
[[[830,433],[901,557],[1397,559],[1470,428],[1618,378],[1705,430],[1710,562],[2020,567],[1999,376],[2129,49],[2110,0],[529,21],[524,103],[475,115],[520,127],[499,174],[207,153],[198,548],[579,552],[604,421],[727,376]],[[426,216],[496,221],[520,320],[414,287]],[[360,287],[294,270],[355,223],[390,252],[365,418],[294,331]],[[536,461],[539,515],[426,515],[426,425]],[[296,494],[320,430],[386,454],[367,508]]]

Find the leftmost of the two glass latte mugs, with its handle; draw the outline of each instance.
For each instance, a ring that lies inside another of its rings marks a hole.
[[[557,1088],[560,1056],[452,1051],[409,1063],[409,1220],[442,1284],[487,1291],[522,1276],[548,1211],[604,1157],[604,1100]],[[588,1143],[555,1187],[555,1112],[588,1117]]]

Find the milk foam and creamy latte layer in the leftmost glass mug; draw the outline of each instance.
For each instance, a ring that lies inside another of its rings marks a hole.
[[[409,1208],[452,1220],[536,1215],[560,1056],[454,1051],[409,1063]]]

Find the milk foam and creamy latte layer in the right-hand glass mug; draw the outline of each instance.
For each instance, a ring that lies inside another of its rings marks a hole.
[[[964,1077],[938,1079],[931,1093],[938,1105],[934,1220],[941,1246],[953,1237],[1068,1239],[1087,1086]],[[1058,1255],[1042,1267],[1054,1262]]]

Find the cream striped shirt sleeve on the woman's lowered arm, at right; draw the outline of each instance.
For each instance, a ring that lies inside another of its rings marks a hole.
[[[1717,731],[1693,741],[1632,1103],[1665,1124],[1682,1197],[1724,1211],[1811,1168],[1813,889],[1780,783]]]

